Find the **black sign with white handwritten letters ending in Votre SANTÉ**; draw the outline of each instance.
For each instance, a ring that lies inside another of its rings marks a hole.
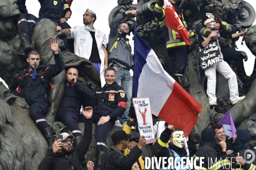
[[[203,69],[222,61],[217,40],[210,40],[204,49],[199,48],[198,54]]]

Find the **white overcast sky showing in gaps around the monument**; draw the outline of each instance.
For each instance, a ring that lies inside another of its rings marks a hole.
[[[256,8],[255,0],[246,1],[250,3],[254,8]],[[137,3],[137,0],[134,0],[134,3]],[[38,17],[40,3],[37,0],[26,0],[26,6],[29,13],[34,14],[36,17]],[[108,26],[108,15],[115,6],[117,6],[117,0],[73,0],[73,3],[71,5],[72,16],[67,23],[69,23],[71,28],[73,28],[74,26],[83,26],[83,14],[85,10],[89,8],[96,14],[97,17],[97,20],[94,23],[94,27],[103,31],[108,39],[108,34],[110,31],[110,28]],[[253,25],[255,24],[256,22],[254,22]],[[133,49],[132,36],[129,37],[129,39]],[[245,51],[247,53],[248,60],[247,62],[244,62],[244,68],[247,75],[250,75],[253,71],[255,57],[248,50],[245,43],[244,45],[241,45],[241,38],[239,39],[239,41],[236,42],[236,44],[239,51]],[[0,78],[0,81],[3,80]]]

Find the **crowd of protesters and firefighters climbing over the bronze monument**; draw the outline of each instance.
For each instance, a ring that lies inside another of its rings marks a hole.
[[[26,69],[20,73],[19,85],[15,90],[16,96],[26,99],[30,106],[29,114],[49,145],[48,153],[38,170],[79,170],[92,139],[92,123],[95,124],[96,130],[97,162],[94,165],[92,161],[88,161],[88,170],[144,170],[142,147],[145,146],[146,139],[139,133],[131,131],[135,129],[133,123],[136,118],[134,108],[131,107],[132,75],[130,70],[134,70],[134,61],[131,45],[126,37],[129,34],[129,26],[123,22],[127,15],[136,16],[139,10],[122,12],[112,20],[107,45],[105,33],[93,26],[96,22],[96,13],[93,10],[87,9],[84,12],[84,26],[71,28],[67,20],[72,14],[70,10],[72,1],[38,1],[41,9],[40,17],[36,19],[26,10],[26,0],[17,0],[21,12],[20,17],[17,18],[21,41],[18,52],[27,57],[28,63],[26,63]],[[211,40],[217,40],[221,62],[205,69],[208,79],[209,105],[211,107],[218,105],[215,96],[216,71],[228,81],[230,102],[234,105],[243,100],[245,96],[239,97],[236,74],[227,62],[234,60],[237,74],[244,86],[249,86],[256,78],[256,74],[251,76],[245,74],[244,56],[231,44],[232,38],[242,36],[247,29],[242,33],[236,33],[234,26],[221,20],[222,8],[215,7],[212,14],[208,13],[202,22],[197,24],[197,37],[186,24],[183,9],[175,6],[175,0],[169,0],[169,3],[182,20],[190,40],[198,41],[201,49],[206,48]],[[178,33],[166,26],[163,7],[163,0],[159,0],[155,4],[153,15],[160,24],[169,57],[175,58],[175,80],[186,89],[191,85],[189,82],[183,83],[190,48]],[[58,24],[56,28],[58,35],[66,36],[68,45],[71,49],[73,48],[74,53],[92,62],[101,78],[101,88],[91,90],[79,80],[79,71],[76,68],[67,70],[64,96],[55,121],[62,122],[71,130],[72,135],[61,133],[63,138],[58,140],[55,140],[51,128],[44,119],[49,110],[47,94],[49,81],[64,69],[64,62],[58,51],[58,41],[55,38],[50,40],[50,49],[55,59],[54,65],[44,65],[40,61],[41,56],[38,51],[32,49],[33,28],[36,22],[44,18]],[[219,31],[219,34],[216,31]],[[81,109],[82,119],[79,118]],[[78,122],[84,122],[83,136]],[[111,135],[113,146],[107,148],[106,136],[113,125],[122,127],[123,130],[115,131]],[[217,160],[214,164],[205,161],[203,168],[206,170],[221,170],[223,166],[219,165],[228,163],[237,169],[256,169],[256,160],[251,163],[244,161],[244,156],[249,156],[246,150],[256,153],[256,149],[250,144],[250,134],[246,130],[237,130],[234,136],[226,136],[222,125],[213,125],[212,129],[205,128],[202,131],[199,146],[189,142],[188,138],[185,139],[182,129],[167,125],[163,121],[155,124],[154,132],[156,142],[153,146],[153,153],[158,160],[161,157],[179,158],[178,160],[182,157],[205,157]],[[198,167],[199,164],[197,162]],[[161,163],[160,169],[163,165],[167,167],[169,163]],[[186,167],[184,164],[179,166],[178,169]]]

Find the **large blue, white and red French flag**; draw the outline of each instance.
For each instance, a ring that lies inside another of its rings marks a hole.
[[[169,125],[181,128],[185,137],[195,126],[200,104],[166,71],[157,55],[136,32],[134,20],[134,98],[149,97],[151,112]]]

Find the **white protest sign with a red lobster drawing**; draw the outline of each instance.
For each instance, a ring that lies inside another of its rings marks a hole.
[[[133,98],[134,109],[141,136],[145,136],[147,144],[156,142],[149,98]]]

